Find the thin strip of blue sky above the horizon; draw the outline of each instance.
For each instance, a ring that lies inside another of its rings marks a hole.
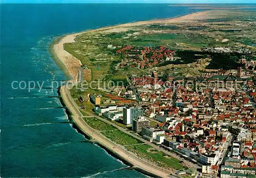
[[[256,3],[256,0],[0,0],[1,3]]]

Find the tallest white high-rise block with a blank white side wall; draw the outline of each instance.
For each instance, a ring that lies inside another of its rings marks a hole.
[[[143,116],[143,111],[141,108],[124,108],[123,109],[123,123],[129,125],[134,119],[139,116]]]

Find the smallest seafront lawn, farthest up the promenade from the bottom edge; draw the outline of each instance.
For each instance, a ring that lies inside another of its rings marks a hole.
[[[111,131],[111,130],[116,129],[114,126],[109,125],[109,124],[97,119],[96,117],[87,117],[87,118],[84,118],[84,120],[93,129],[96,129],[98,131]]]

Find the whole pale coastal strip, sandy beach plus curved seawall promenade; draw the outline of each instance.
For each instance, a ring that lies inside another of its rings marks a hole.
[[[132,26],[140,26],[145,24],[153,24],[153,23],[178,23],[178,22],[189,22],[190,20],[197,20],[197,19],[204,19],[207,16],[207,13],[211,11],[202,11],[197,13],[192,13],[176,18],[168,18],[168,19],[156,19],[156,20],[148,20],[148,21],[139,21],[139,22],[132,22],[132,23],[125,23],[125,24],[118,24],[116,26],[111,27],[103,27],[96,30],[90,31],[83,31],[74,34],[68,34],[61,38],[56,38],[54,40],[54,44],[51,45],[52,50],[50,52],[53,53],[54,61],[60,68],[65,72],[65,74],[69,74],[72,77],[72,81],[76,82],[77,75],[78,75],[78,68],[81,67],[81,62],[76,57],[68,53],[64,49],[65,43],[72,43],[75,42],[75,37],[77,35],[83,33],[90,33],[96,31],[113,31],[118,32],[118,30],[122,30],[124,27],[132,27]],[[161,169],[155,165],[152,165],[144,160],[137,158],[136,156],[132,155],[129,151],[124,148],[119,147],[112,141],[106,139],[102,135],[96,133],[82,118],[82,114],[79,111],[76,103],[74,102],[73,98],[71,97],[69,89],[67,86],[61,86],[59,89],[59,93],[61,96],[61,103],[68,108],[69,117],[72,119],[73,123],[77,126],[77,129],[83,133],[83,135],[88,136],[91,138],[92,142],[98,144],[100,147],[104,148],[111,155],[116,156],[116,158],[133,165],[134,169],[154,177],[169,177],[171,172]]]

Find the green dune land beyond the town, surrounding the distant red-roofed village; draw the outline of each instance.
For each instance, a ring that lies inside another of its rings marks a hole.
[[[77,57],[83,65],[92,69],[92,80],[100,81],[124,80],[126,75],[140,75],[156,67],[138,69],[137,67],[131,68],[131,63],[126,65],[124,62],[123,64],[123,60],[127,56],[123,55],[125,53],[116,53],[116,50],[127,45],[138,48],[138,51],[145,46],[154,48],[160,45],[175,50],[177,52],[175,61],[163,62],[157,67],[159,71],[163,71],[163,67],[167,64],[176,65],[177,67],[173,67],[178,69],[171,70],[170,73],[184,77],[201,74],[199,70],[195,70],[198,68],[197,63],[201,67],[200,69],[212,68],[212,66],[220,66],[219,68],[222,69],[220,64],[223,64],[225,60],[216,60],[207,52],[207,55],[212,59],[211,64],[214,65],[208,65],[208,62],[201,65],[200,61],[189,60],[185,64],[196,62],[193,64],[194,66],[179,66],[179,64],[183,64],[181,61],[187,61],[187,58],[185,55],[179,55],[178,51],[181,51],[181,53],[186,51],[198,53],[204,47],[226,47],[231,50],[250,49],[252,52],[256,51],[256,16],[253,11],[244,10],[241,13],[241,10],[216,10],[209,12],[207,17],[206,19],[189,21],[189,23],[186,21],[169,24],[164,22],[125,27],[121,28],[120,31],[117,28],[116,30],[88,32],[76,36],[76,42],[66,43],[64,47],[67,52]],[[244,58],[249,58],[249,56],[244,56]],[[164,73],[160,72],[160,74]],[[77,96],[77,94],[73,94]]]

